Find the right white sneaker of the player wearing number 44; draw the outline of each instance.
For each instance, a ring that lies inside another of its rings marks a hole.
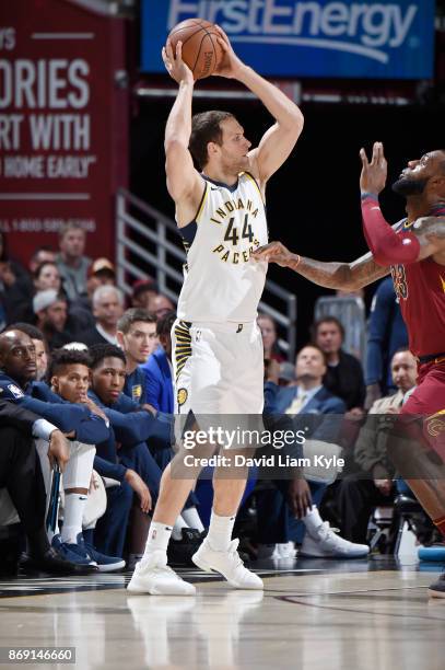
[[[225,552],[215,552],[209,544],[208,538],[199,550],[191,556],[191,561],[206,573],[220,573],[235,589],[262,589],[262,580],[244,567],[243,561],[236,551],[239,540],[232,540]]]

